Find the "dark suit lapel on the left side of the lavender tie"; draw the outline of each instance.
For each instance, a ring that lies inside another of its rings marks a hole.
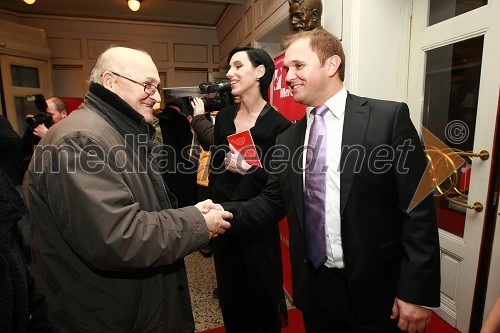
[[[295,130],[290,133],[290,153],[291,168],[290,168],[290,182],[292,186],[292,196],[297,210],[297,221],[299,226],[304,232],[304,179],[303,172],[299,172],[303,168],[303,146],[304,138],[306,135],[307,119],[303,117],[295,125]]]

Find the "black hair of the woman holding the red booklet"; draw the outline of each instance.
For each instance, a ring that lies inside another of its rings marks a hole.
[[[263,49],[258,49],[251,46],[238,46],[235,47],[231,52],[229,52],[229,56],[227,57],[227,66],[229,67],[229,62],[233,55],[237,52],[244,51],[248,55],[248,59],[252,63],[253,67],[258,67],[263,65],[265,68],[264,75],[259,79],[260,82],[260,94],[264,100],[269,101],[269,86],[273,81],[274,75],[274,61],[271,56],[264,51]]]

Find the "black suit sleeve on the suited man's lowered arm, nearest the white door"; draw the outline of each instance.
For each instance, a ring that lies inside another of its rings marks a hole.
[[[394,178],[401,204],[404,254],[397,297],[417,305],[439,307],[440,247],[432,193],[408,211],[427,160],[404,103],[396,111],[392,146],[398,157]]]

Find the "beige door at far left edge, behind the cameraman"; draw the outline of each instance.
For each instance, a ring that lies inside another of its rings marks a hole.
[[[5,111],[12,127],[23,135],[27,114],[38,112],[28,95],[52,97],[49,61],[12,55],[0,55],[1,80]]]

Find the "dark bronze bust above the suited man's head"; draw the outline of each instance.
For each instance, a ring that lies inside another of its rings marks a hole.
[[[288,4],[294,33],[321,27],[321,0],[288,0]]]

